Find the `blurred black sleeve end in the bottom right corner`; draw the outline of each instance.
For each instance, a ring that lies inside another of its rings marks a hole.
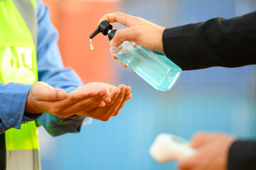
[[[228,153],[228,170],[256,169],[256,141],[236,141]]]

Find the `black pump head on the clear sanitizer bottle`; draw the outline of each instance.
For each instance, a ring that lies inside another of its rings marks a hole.
[[[114,37],[114,33],[117,30],[112,30],[113,26],[107,21],[102,21],[95,32],[90,35],[90,39],[94,38],[98,33],[102,33],[103,35],[108,35],[109,40],[112,40]]]

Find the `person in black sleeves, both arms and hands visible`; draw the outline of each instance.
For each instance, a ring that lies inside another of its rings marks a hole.
[[[165,54],[183,70],[256,64],[256,12],[174,28],[164,28],[120,12],[108,13],[99,23],[102,21],[118,22],[128,27],[117,30],[110,42],[113,47],[132,40],[149,50]],[[199,132],[191,140],[191,147],[197,152],[178,162],[181,170],[256,169],[256,141]]]

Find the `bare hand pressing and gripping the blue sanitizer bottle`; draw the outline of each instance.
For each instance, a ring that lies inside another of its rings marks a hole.
[[[112,47],[121,45],[126,40],[132,40],[143,47],[158,53],[164,54],[164,47],[162,41],[162,35],[164,33],[164,27],[146,21],[144,18],[130,16],[122,12],[107,13],[100,18],[98,25],[102,21],[109,23],[121,23],[127,28],[117,30],[114,34],[114,38],[110,41]],[[114,60],[117,57],[112,55]],[[123,67],[127,67],[123,62],[120,62]]]

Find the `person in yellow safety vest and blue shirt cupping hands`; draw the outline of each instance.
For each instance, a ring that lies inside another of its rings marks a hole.
[[[131,88],[82,84],[64,68],[58,35],[41,0],[0,1],[0,169],[41,169],[36,126],[52,136],[109,120]],[[86,66],[86,64],[85,64]]]

